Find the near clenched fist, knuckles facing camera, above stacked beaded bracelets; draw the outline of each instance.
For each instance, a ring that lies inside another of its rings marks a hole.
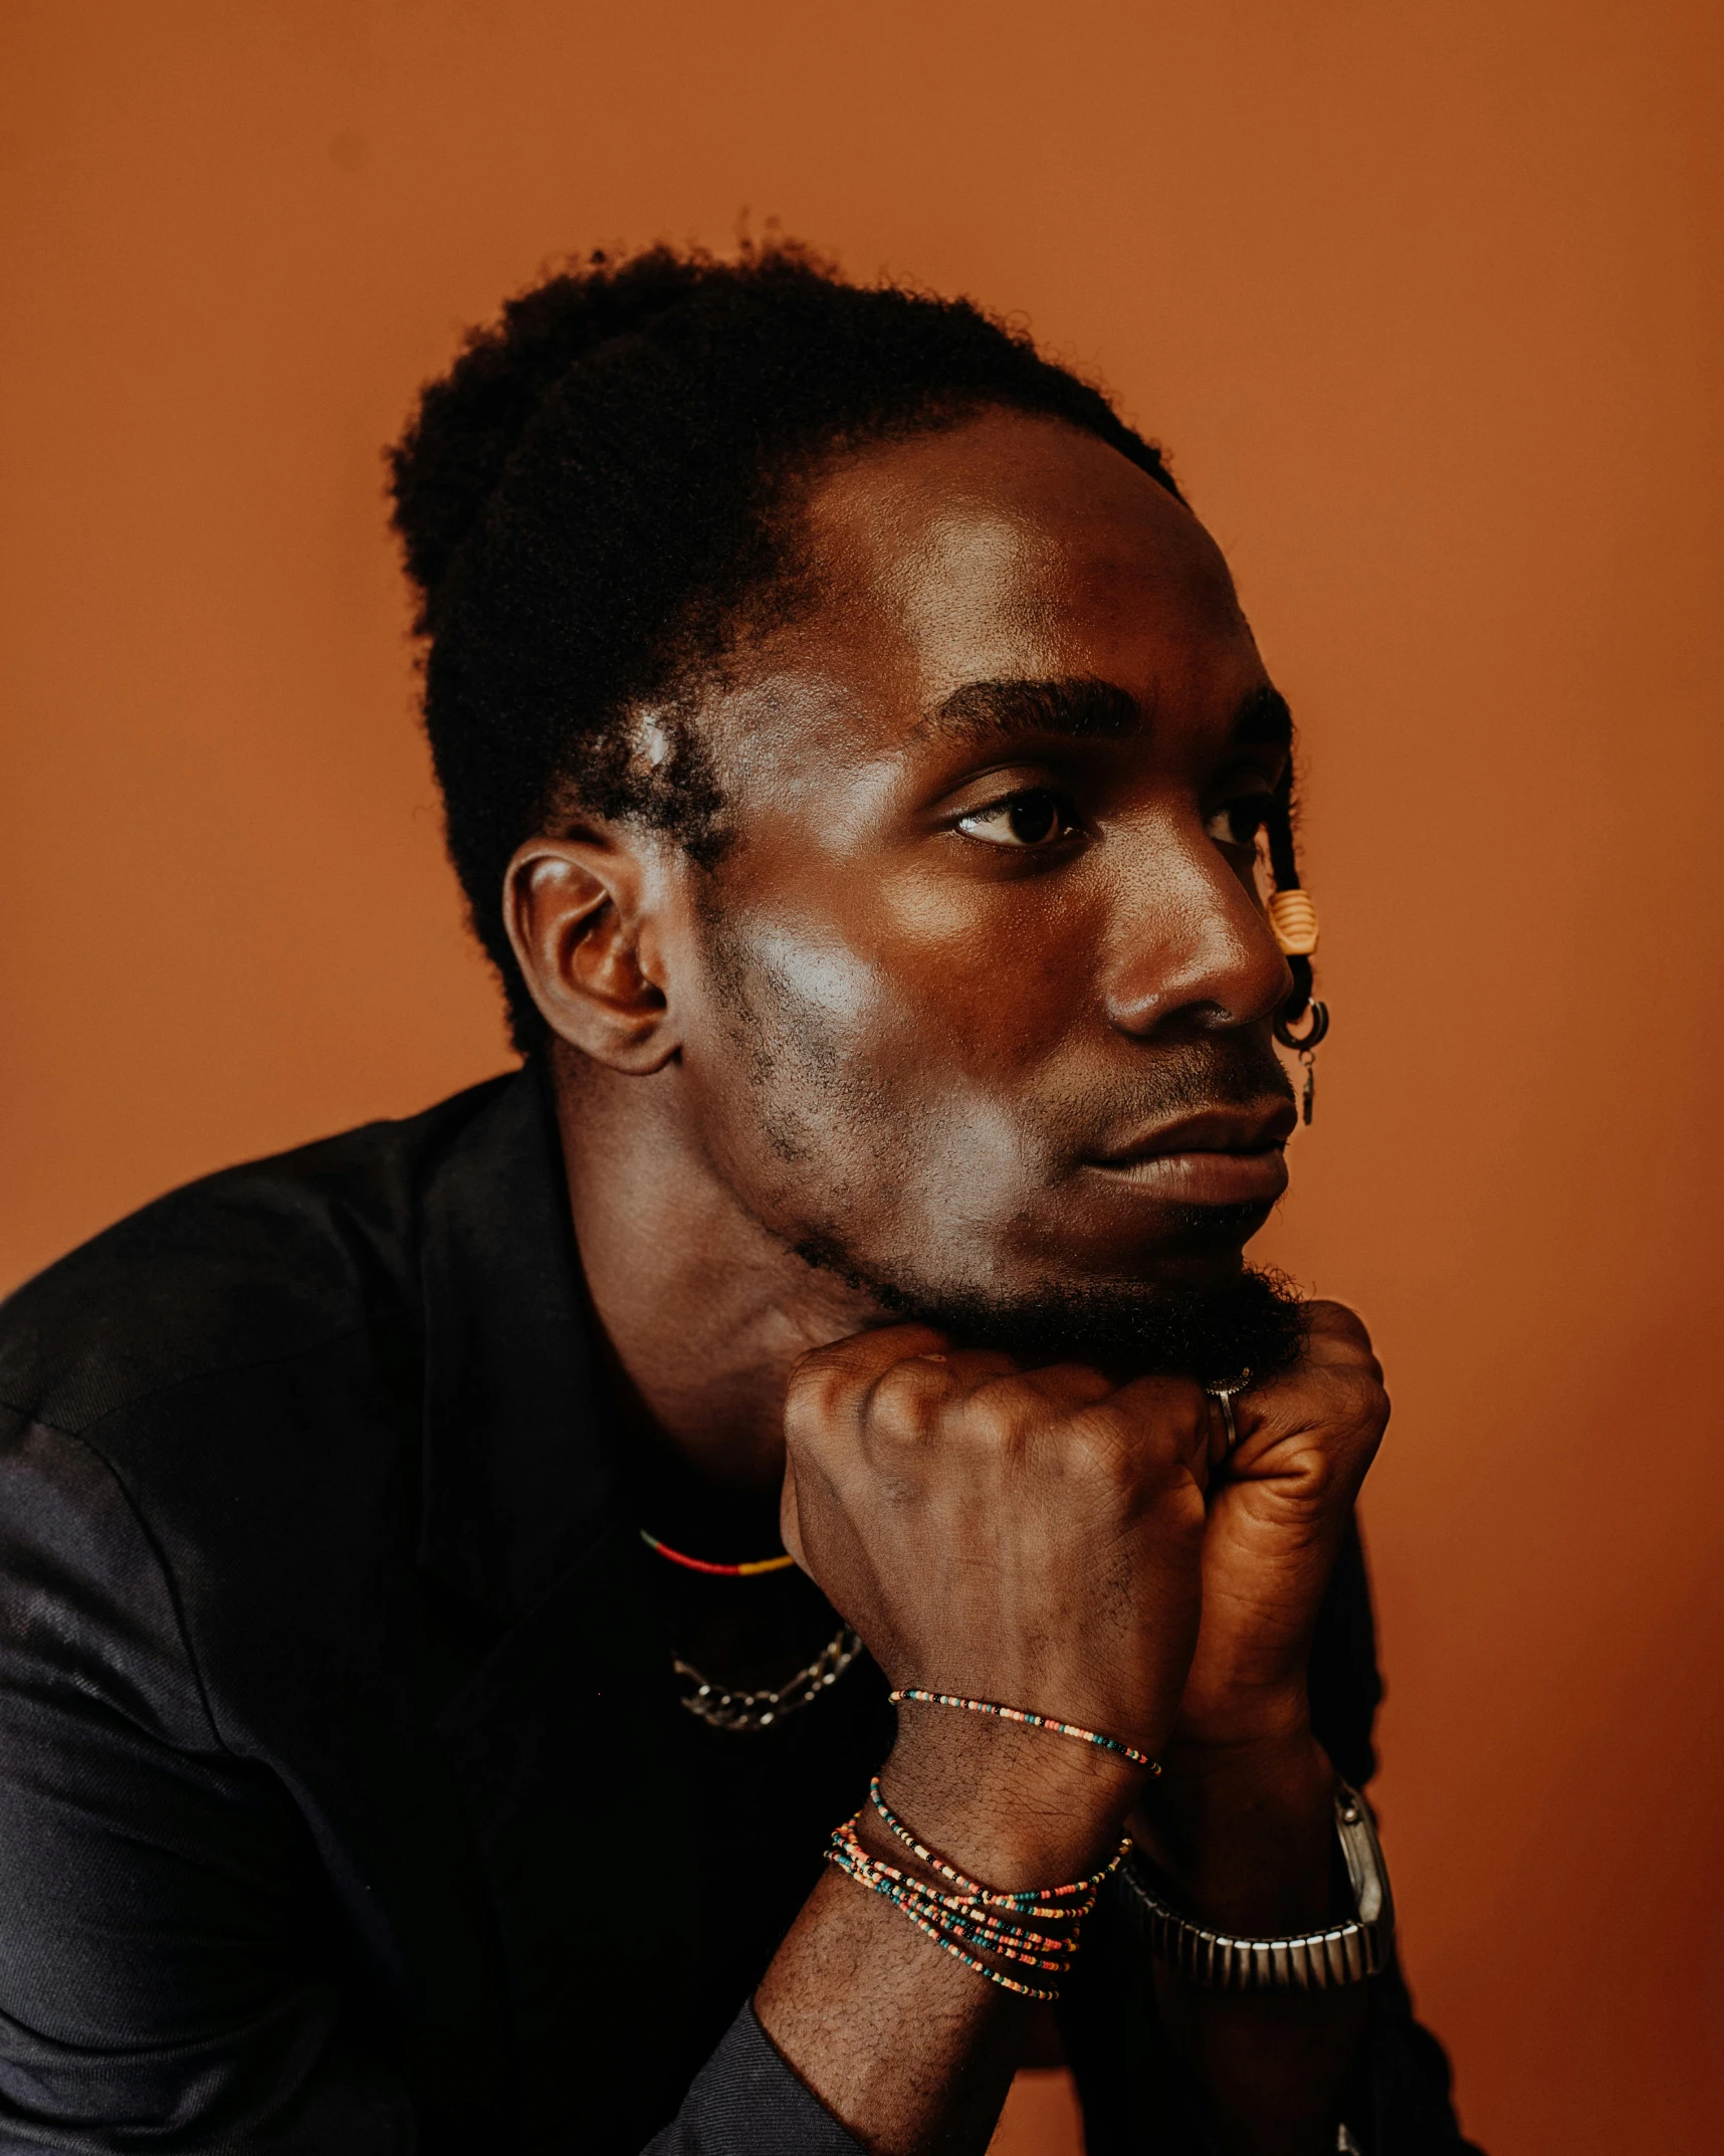
[[[1196,1386],[1024,1371],[894,1326],[804,1356],[784,1436],[784,1546],[894,1686],[1162,1749],[1198,1632]],[[978,1867],[1019,1869],[1099,1854],[1140,1781],[1097,1746],[912,1708],[888,1794],[929,1837],[968,1833]]]

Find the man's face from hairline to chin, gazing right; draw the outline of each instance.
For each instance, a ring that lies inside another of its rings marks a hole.
[[[806,530],[817,597],[703,716],[735,843],[681,1082],[715,1171],[884,1309],[983,1335],[1226,1291],[1293,1106],[1235,839],[1287,709],[1220,552],[1015,414],[828,470]]]

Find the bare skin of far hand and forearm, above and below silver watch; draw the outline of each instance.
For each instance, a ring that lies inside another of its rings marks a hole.
[[[1284,1936],[1332,1923],[1334,1766],[1306,1671],[1353,1501],[1388,1421],[1371,1339],[1338,1302],[1306,1307],[1299,1363],[1213,1416],[1202,1626],[1166,1774],[1131,1822],[1198,1923]],[[1334,2147],[1362,2042],[1364,1986],[1231,1996],[1157,1966],[1168,2042],[1207,2089],[1215,2141],[1252,2156]]]

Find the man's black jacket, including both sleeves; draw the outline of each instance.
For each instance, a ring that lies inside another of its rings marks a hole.
[[[748,1996],[890,1744],[884,1680],[698,1729],[634,1526],[532,1069],[19,1289],[0,2156],[851,2150]],[[1377,1692],[1353,1544],[1315,1667],[1351,1781]],[[1202,2147],[1144,1990],[1108,1906],[1065,2014],[1097,2156]],[[1459,2150],[1377,1992],[1355,2132]]]

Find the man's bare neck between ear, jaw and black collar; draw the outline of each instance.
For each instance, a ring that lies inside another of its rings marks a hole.
[[[879,1311],[737,1203],[681,1112],[677,1065],[625,1078],[556,1044],[552,1076],[575,1242],[625,1419],[720,1488],[776,1492],[791,1365]]]

